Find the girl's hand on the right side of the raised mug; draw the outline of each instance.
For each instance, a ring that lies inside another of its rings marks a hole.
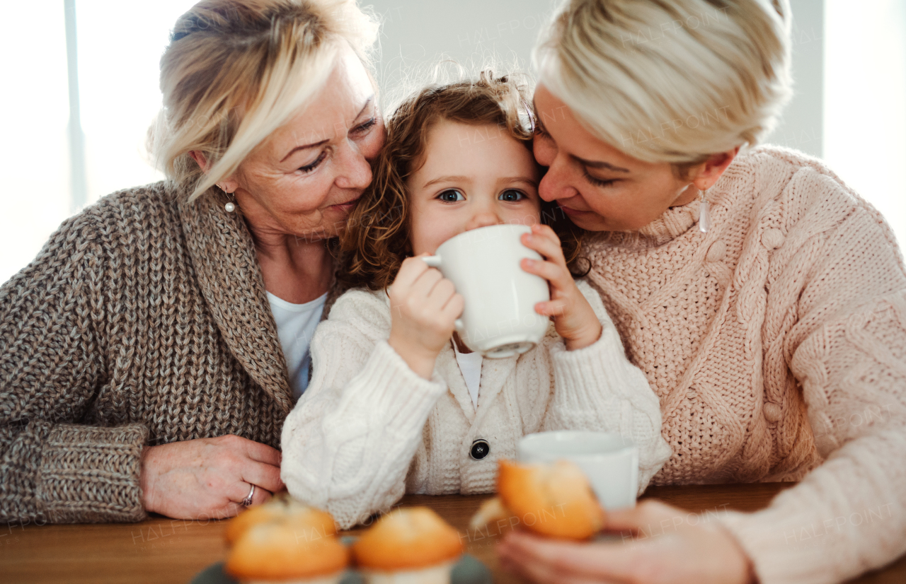
[[[554,319],[554,327],[564,338],[567,350],[582,349],[600,339],[601,322],[575,285],[554,230],[548,225],[532,225],[532,233],[522,235],[522,244],[545,258],[545,261],[525,258],[522,269],[541,276],[551,288],[551,300],[535,304],[535,312]]]

